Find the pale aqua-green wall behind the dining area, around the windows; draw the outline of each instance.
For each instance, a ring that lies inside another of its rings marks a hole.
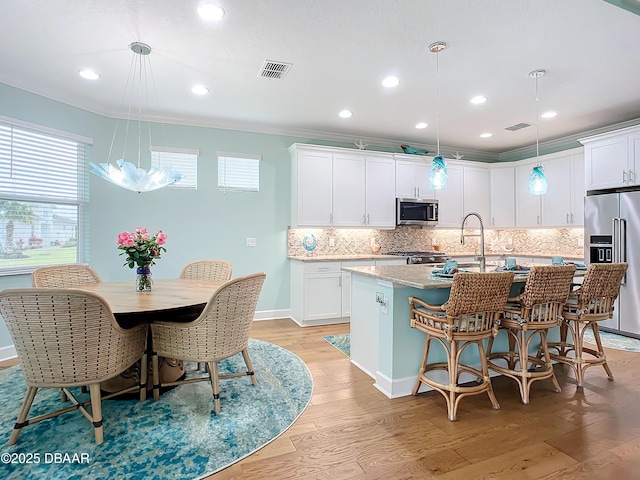
[[[94,163],[107,160],[115,120],[1,83],[0,115],[91,137],[94,144],[90,160]],[[200,150],[198,190],[163,189],[138,194],[91,175],[91,266],[105,281],[133,281],[134,272],[123,267],[123,259],[118,256],[117,234],[137,226],[162,229],[168,236],[167,252],[153,268],[155,278],[176,277],[182,266],[192,260],[224,259],[233,265],[234,276],[267,273],[259,311],[288,310],[291,182],[287,148],[296,142],[327,142],[181,125],[165,125],[163,133],[158,125],[154,126],[155,145]],[[145,151],[147,146],[142,148]],[[219,192],[218,151],[261,155],[260,191]],[[122,147],[115,146],[114,152],[122,152]],[[111,161],[117,158],[112,155]],[[137,163],[137,159],[128,160]],[[149,168],[144,162],[142,166]],[[247,237],[256,238],[257,246],[246,247]],[[29,285],[30,279],[25,275],[0,277],[0,289]],[[0,320],[0,348],[11,344]]]

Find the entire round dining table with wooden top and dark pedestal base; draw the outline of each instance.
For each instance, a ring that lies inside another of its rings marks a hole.
[[[118,324],[122,328],[131,328],[152,321],[195,320],[223,283],[222,280],[169,278],[153,280],[151,290],[143,292],[136,290],[134,281],[100,282],[73,288],[100,295],[111,308]],[[148,353],[152,348],[149,338]],[[150,359],[151,355],[148,357]],[[121,375],[103,382],[100,388],[110,393],[135,385],[139,380],[139,372],[139,366],[133,365]],[[147,388],[152,388],[151,370],[148,372]],[[175,381],[184,375],[184,364],[181,360],[161,358],[159,373],[162,383]]]

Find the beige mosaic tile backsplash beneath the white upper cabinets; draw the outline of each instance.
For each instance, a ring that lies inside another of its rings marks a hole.
[[[466,228],[465,233],[479,230]],[[317,246],[315,255],[366,255],[371,245],[380,245],[380,253],[391,251],[429,251],[439,245],[449,255],[473,255],[480,253],[480,238],[466,239],[460,243],[460,229],[433,229],[403,226],[395,230],[371,229],[309,229],[289,228],[288,255],[307,255],[303,238],[313,234]],[[486,255],[583,257],[583,228],[554,229],[501,229],[485,230]]]

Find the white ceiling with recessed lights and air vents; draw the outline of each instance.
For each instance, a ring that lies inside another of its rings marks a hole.
[[[0,82],[126,118],[140,41],[156,85],[148,119],[429,149],[439,130],[443,151],[498,158],[535,145],[535,69],[538,110],[558,112],[540,121],[541,142],[640,118],[636,1],[219,0],[225,17],[207,23],[197,0],[3,0]],[[448,44],[439,55],[436,41]],[[265,60],[292,67],[262,78]],[[100,79],[80,78],[85,67]],[[381,85],[388,75],[396,88]],[[196,83],[209,93],[193,95]],[[505,130],[521,122],[533,126]]]

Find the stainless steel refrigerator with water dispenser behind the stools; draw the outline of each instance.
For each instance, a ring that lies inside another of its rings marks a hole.
[[[629,264],[613,318],[599,325],[640,338],[640,190],[587,192],[584,241],[585,263]]]

